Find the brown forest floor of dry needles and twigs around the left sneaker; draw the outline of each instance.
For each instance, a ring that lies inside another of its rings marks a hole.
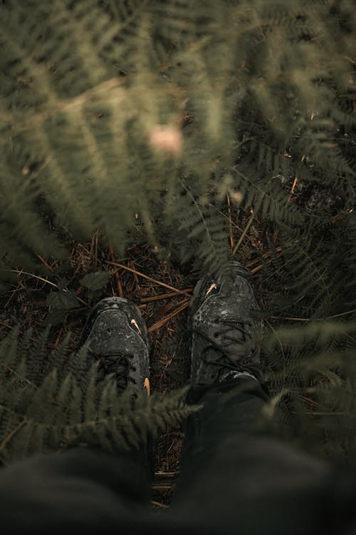
[[[230,223],[232,250],[241,231],[232,220]],[[261,248],[258,240],[248,240],[250,248]],[[48,315],[48,292],[60,277],[66,277],[68,288],[73,288],[80,299],[80,307],[66,311],[65,320],[51,327],[48,350],[56,347],[68,333],[70,349],[76,350],[86,317],[95,302],[101,297],[126,297],[140,308],[147,324],[151,343],[151,389],[163,395],[187,384],[190,369],[187,309],[198,280],[197,273],[181,272],[178,267],[172,267],[171,262],[159,260],[155,250],[147,245],[134,245],[128,248],[125,258],[119,258],[112,248],[100,243],[98,233],[88,243],[69,240],[66,245],[68,258],[61,263],[38,255],[39,262],[46,265],[48,276],[19,272],[18,283],[0,295],[0,327],[4,332],[18,322],[22,330],[29,327],[34,332],[42,330]],[[258,267],[256,261],[250,265],[253,275],[258,276],[261,266]],[[79,280],[88,272],[97,271],[108,271],[112,276],[103,295],[88,300]],[[168,429],[159,437],[152,486],[152,506],[157,510],[167,508],[172,499],[183,438],[179,427]]]

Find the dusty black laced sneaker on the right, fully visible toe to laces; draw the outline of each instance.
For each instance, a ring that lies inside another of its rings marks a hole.
[[[231,264],[227,280],[205,277],[197,283],[189,305],[194,384],[213,384],[243,375],[261,379],[258,340],[261,310],[250,273]]]

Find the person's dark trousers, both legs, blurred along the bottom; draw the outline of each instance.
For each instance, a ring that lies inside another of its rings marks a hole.
[[[258,382],[195,387],[190,399],[204,408],[188,419],[167,511],[150,509],[152,469],[142,452],[69,449],[1,470],[1,531],[356,533],[355,480],[258,432],[266,403]]]

